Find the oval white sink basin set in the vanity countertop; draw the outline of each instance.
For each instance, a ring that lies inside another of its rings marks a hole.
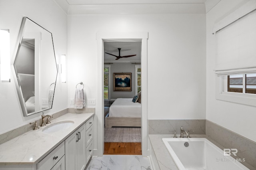
[[[42,130],[42,132],[44,133],[58,132],[59,130],[67,129],[72,125],[74,125],[73,121],[60,121],[60,122],[56,122],[51,125],[48,125]]]

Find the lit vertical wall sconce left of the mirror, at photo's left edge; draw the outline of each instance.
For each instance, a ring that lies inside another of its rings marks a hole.
[[[10,82],[10,32],[0,30],[0,78]]]

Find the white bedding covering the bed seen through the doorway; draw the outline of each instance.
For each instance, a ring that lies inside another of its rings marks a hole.
[[[118,98],[109,108],[109,117],[141,117],[141,104],[132,98]]]

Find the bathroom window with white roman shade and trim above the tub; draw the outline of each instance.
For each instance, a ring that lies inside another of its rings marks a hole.
[[[248,1],[214,24],[216,99],[256,106],[256,6]]]

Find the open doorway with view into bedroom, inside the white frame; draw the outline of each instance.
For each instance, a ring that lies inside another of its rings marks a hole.
[[[121,76],[128,81],[115,83]],[[104,154],[141,155],[141,127],[129,121],[133,116],[141,117],[141,100],[132,102],[141,91],[141,41],[104,42],[103,84]]]

